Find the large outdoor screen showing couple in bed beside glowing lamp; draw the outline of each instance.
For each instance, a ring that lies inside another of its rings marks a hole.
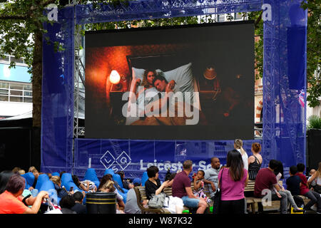
[[[253,85],[253,24],[86,33],[86,138],[252,139]]]

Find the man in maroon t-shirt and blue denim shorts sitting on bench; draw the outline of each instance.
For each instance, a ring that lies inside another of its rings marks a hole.
[[[197,207],[196,213],[203,214],[208,204],[205,199],[193,195],[190,178],[188,177],[192,170],[193,162],[191,160],[185,160],[183,162],[183,172],[175,175],[172,185],[172,195],[173,197],[183,199],[185,207]]]

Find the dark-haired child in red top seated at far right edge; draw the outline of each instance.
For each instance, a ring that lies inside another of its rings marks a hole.
[[[307,177],[303,174],[305,171],[305,165],[302,163],[297,164],[297,175],[301,179],[300,185],[300,195],[304,195],[310,199],[303,209],[310,209],[315,203],[317,203],[317,214],[321,214],[321,197],[320,194],[309,190],[309,185],[307,185]]]

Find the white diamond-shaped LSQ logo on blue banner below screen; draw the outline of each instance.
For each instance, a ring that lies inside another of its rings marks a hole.
[[[101,164],[106,169],[112,169],[114,172],[118,170],[125,170],[129,164],[131,164],[131,157],[123,151],[121,155],[113,155],[109,150],[107,150],[101,157]]]

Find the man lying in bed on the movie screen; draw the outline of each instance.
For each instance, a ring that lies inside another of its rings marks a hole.
[[[144,118],[132,125],[205,125],[203,113],[185,100],[190,100],[188,93],[183,94],[175,84],[161,75],[156,75],[153,85],[160,92],[158,98],[144,108]],[[187,95],[187,97],[186,97]]]

